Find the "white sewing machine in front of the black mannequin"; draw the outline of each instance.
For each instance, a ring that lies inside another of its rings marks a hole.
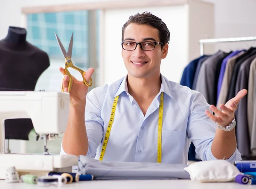
[[[3,91],[0,92],[0,179],[6,169],[15,166],[18,172],[45,175],[50,171],[72,171],[78,164],[74,155],[50,155],[47,140],[64,133],[69,114],[69,93]],[[12,154],[5,152],[4,120],[31,118],[35,132],[44,137],[44,153]]]

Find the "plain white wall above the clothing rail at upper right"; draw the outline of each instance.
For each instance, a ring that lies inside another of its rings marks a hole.
[[[204,0],[215,4],[215,38],[256,36],[256,0]],[[256,46],[256,42],[215,45],[224,51]]]

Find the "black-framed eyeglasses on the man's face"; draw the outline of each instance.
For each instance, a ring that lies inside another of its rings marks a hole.
[[[152,51],[154,50],[156,45],[162,45],[162,42],[153,42],[153,41],[143,41],[143,42],[132,42],[132,41],[125,41],[121,42],[122,48],[125,51],[133,51],[137,48],[137,45],[140,45],[140,48],[143,51]]]

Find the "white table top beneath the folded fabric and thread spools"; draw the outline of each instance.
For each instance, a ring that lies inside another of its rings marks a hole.
[[[71,183],[61,186],[61,188],[74,189],[157,189],[157,188],[186,188],[186,189],[251,189],[254,185],[243,185],[235,182],[228,183],[200,183],[191,180],[130,180],[130,181],[80,181],[78,183]],[[0,189],[42,189],[34,184],[27,183],[5,183],[0,180]],[[56,189],[59,187],[51,186],[47,189]]]

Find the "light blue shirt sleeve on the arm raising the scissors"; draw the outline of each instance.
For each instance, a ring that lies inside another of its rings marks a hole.
[[[104,89],[104,88],[103,88]],[[88,152],[86,156],[95,158],[97,148],[102,142],[103,138],[103,120],[101,118],[101,107],[103,104],[103,97],[105,91],[102,91],[101,95],[97,91],[99,89],[93,89],[86,96],[86,107],[85,107],[85,127],[88,137]],[[66,154],[64,152],[61,142],[60,154]]]

